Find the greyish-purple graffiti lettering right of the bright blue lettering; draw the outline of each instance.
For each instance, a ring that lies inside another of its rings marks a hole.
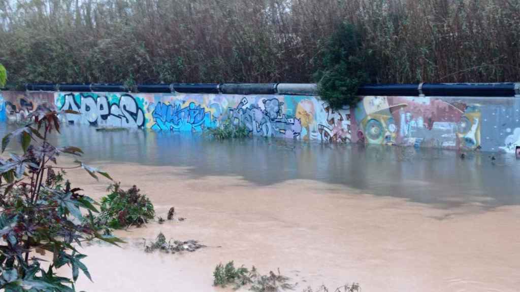
[[[299,118],[288,117],[283,113],[283,102],[278,98],[262,99],[262,107],[249,104],[244,97],[235,108],[229,109],[233,123],[245,125],[253,135],[282,138],[298,138],[302,133]]]

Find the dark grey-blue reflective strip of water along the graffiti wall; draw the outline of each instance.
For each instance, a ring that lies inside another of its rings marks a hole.
[[[5,125],[5,124],[4,124]],[[2,126],[4,126],[2,125]],[[9,126],[11,128],[11,126]],[[0,134],[8,129],[2,127]],[[520,203],[520,162],[511,155],[337,145],[253,138],[214,141],[199,134],[63,127],[59,145],[75,145],[85,161],[189,166],[193,176],[240,175],[267,185],[291,179],[344,184],[375,195],[453,207]]]

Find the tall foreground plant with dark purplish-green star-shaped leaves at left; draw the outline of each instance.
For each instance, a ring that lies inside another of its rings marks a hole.
[[[111,179],[106,172],[80,161],[75,167],[57,166],[61,153],[83,153],[76,147],[57,148],[48,141],[52,131],[59,132],[58,114],[64,113],[77,114],[38,109],[30,114],[30,123],[2,139],[2,153],[11,140],[18,139],[23,154],[11,153],[9,159],[0,159],[0,290],[74,291],[80,270],[91,277],[82,262],[86,255],[73,244],[81,246],[96,238],[115,245],[122,242],[100,234],[91,220],[84,220],[82,209],[92,218],[98,213],[98,204],[80,194],[81,189],[72,188],[70,182],[63,182],[63,169],[71,168],[83,168],[96,179],[98,174]],[[43,260],[34,253],[46,251],[53,257],[44,270]],[[72,269],[72,278],[56,274],[66,265]]]

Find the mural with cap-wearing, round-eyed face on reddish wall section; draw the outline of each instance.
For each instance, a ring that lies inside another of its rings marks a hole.
[[[374,144],[475,149],[478,104],[428,97],[366,97],[355,109],[357,138]]]

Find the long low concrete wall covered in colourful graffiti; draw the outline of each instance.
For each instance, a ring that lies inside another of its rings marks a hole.
[[[300,95],[3,91],[0,122],[20,120],[38,106],[79,111],[63,118],[92,126],[202,131],[229,117],[263,136],[508,153],[520,148],[515,97],[365,96],[355,108],[333,111],[319,97]]]

